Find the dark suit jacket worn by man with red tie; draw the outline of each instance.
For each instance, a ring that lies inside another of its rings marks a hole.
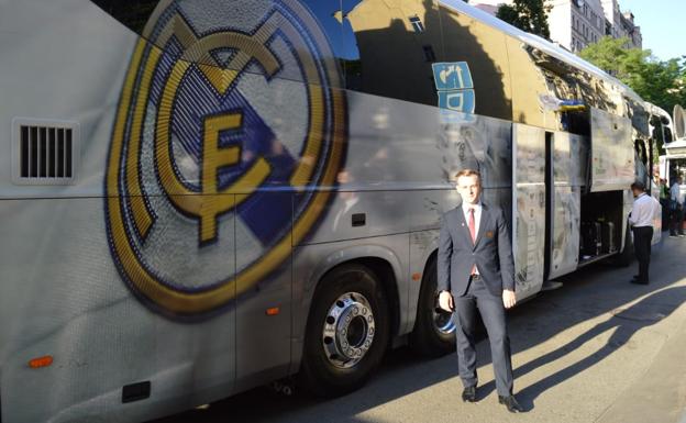
[[[482,220],[472,242],[462,205],[443,214],[439,238],[439,291],[454,297],[467,292],[474,265],[488,291],[501,296],[504,289],[514,290],[512,244],[505,213],[497,207],[482,203]]]

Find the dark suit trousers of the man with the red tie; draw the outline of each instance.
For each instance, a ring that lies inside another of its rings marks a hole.
[[[507,334],[507,321],[502,298],[490,293],[479,279],[469,281],[467,292],[455,297],[455,323],[457,337],[457,367],[460,378],[465,387],[476,387],[476,349],[475,331],[477,310],[482,315],[493,358],[496,389],[501,397],[512,394],[512,363],[510,357],[510,338]]]

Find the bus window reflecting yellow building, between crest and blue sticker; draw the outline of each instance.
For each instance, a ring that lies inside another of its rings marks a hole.
[[[435,0],[343,0],[346,88],[438,104],[432,63],[443,45]]]

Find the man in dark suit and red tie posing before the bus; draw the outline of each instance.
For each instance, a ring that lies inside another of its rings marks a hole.
[[[514,263],[505,214],[482,203],[480,175],[457,174],[462,205],[443,215],[439,241],[439,304],[456,321],[463,401],[476,401],[476,313],[482,315],[493,356],[498,400],[510,412],[522,411],[512,394],[510,339],[505,309],[517,302]]]

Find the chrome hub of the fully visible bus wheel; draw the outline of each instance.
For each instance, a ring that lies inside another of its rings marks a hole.
[[[374,313],[369,301],[346,292],[333,302],[324,320],[322,345],[329,363],[339,368],[355,366],[374,342]]]

